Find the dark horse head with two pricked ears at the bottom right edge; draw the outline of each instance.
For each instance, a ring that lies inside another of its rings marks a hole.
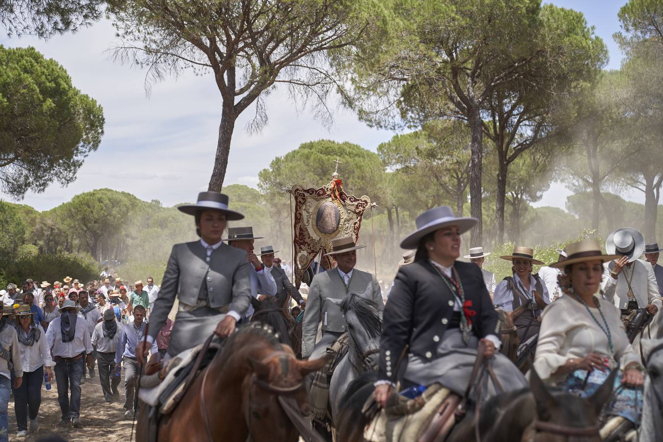
[[[536,370],[530,372],[530,385],[536,404],[536,417],[528,428],[530,439],[537,442],[554,442],[581,439],[601,441],[599,416],[613,391],[617,370],[589,398],[579,398],[569,393],[553,395],[539,378]]]

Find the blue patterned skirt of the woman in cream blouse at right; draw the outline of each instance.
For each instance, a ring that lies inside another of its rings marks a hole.
[[[560,382],[558,386],[566,392],[587,398],[605,382],[610,375],[609,371],[575,370],[573,373]],[[621,383],[623,372],[619,370],[615,376],[613,394],[610,396],[610,402],[605,404],[603,413],[609,416],[621,416],[633,422],[636,427],[640,426],[642,418],[642,386],[638,388],[629,388]]]

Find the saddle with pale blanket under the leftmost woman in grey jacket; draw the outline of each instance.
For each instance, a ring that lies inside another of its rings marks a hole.
[[[200,370],[213,359],[221,345],[211,339],[192,349],[188,349],[170,360],[167,374],[154,385],[155,378],[162,372],[155,372],[141,379],[139,399],[152,407],[158,407],[160,414],[169,414],[180,402],[182,396]]]

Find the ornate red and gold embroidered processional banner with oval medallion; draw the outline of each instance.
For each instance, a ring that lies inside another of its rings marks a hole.
[[[371,206],[369,197],[357,198],[343,191],[337,171],[331,176],[331,182],[322,188],[304,189],[295,184],[290,190],[295,202],[293,246],[296,287],[300,286],[304,270],[318,252],[331,251],[331,239],[352,235],[357,242],[361,217]]]

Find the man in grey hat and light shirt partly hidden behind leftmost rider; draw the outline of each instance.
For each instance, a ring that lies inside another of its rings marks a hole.
[[[253,227],[230,227],[228,229],[228,237],[223,241],[227,241],[228,245],[235,249],[244,250],[247,252],[247,262],[251,265],[253,272],[250,272],[251,277],[251,297],[260,299],[260,295],[274,296],[276,295],[276,281],[269,270],[265,269],[263,263],[253,253],[253,243],[256,239],[263,239],[264,237],[254,237]],[[246,317],[253,315],[253,305],[249,305],[246,312]]]

